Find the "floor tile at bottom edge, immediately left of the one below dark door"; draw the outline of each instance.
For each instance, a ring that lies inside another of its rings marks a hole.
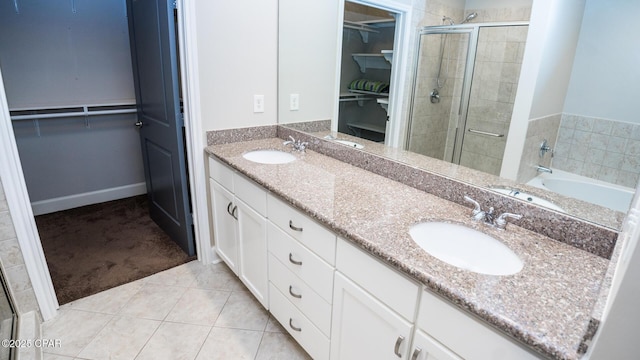
[[[160,321],[115,317],[78,355],[91,360],[133,360]]]

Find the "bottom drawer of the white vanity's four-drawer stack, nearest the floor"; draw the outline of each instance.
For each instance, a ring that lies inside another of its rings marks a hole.
[[[269,284],[269,291],[271,294],[269,309],[276,320],[313,359],[329,359],[329,338],[324,336],[273,284]]]

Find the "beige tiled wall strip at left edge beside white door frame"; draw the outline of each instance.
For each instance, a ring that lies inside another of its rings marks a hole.
[[[0,261],[2,261],[5,278],[13,293],[18,314],[30,311],[39,312],[36,295],[24,264],[24,257],[13,226],[2,182],[0,182]]]

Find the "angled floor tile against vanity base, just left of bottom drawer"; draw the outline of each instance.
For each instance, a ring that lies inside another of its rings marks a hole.
[[[269,313],[248,291],[234,291],[229,296],[215,326],[264,331]]]

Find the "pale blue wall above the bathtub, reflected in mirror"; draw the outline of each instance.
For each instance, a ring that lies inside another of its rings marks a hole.
[[[640,2],[588,0],[564,112],[640,123]]]

